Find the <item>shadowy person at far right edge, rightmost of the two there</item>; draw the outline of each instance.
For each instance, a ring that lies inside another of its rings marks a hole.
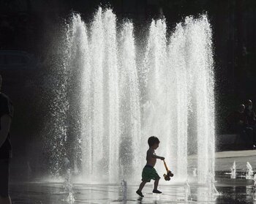
[[[244,113],[248,121],[248,126],[253,129],[253,143],[255,145],[256,144],[256,115],[255,115],[255,112],[252,110],[252,101],[249,99],[246,101]]]

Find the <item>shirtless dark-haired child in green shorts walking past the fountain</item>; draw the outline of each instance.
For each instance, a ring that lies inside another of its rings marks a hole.
[[[154,165],[156,165],[157,159],[165,160],[165,157],[162,156],[157,156],[155,154],[155,150],[159,147],[159,139],[155,136],[151,136],[148,138],[148,151],[147,151],[147,156],[146,156],[146,166],[143,168],[142,172],[142,179],[141,179],[141,184],[136,192],[140,197],[144,197],[142,194],[142,189],[145,186],[147,182],[150,182],[151,179],[154,180],[154,190],[153,193],[162,193],[157,189],[158,183],[160,176],[158,175],[157,171],[154,169]]]

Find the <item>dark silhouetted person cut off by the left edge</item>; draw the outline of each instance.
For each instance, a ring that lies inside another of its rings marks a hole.
[[[0,90],[1,90],[0,75]],[[7,95],[0,91],[0,204],[12,203],[9,196],[9,166],[12,157],[10,144],[10,124],[13,106]]]

